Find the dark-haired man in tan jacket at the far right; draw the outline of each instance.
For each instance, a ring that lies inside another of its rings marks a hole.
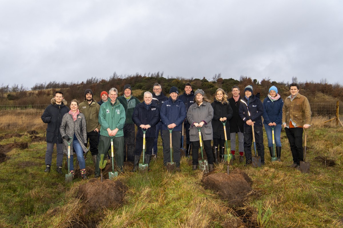
[[[286,97],[282,107],[282,124],[291,146],[293,164],[289,167],[300,169],[300,161],[304,161],[303,128],[311,123],[311,107],[308,99],[299,94],[299,85],[289,85],[291,95]]]

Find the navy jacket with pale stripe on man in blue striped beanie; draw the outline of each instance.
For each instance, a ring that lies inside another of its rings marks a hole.
[[[263,105],[259,98],[251,95],[248,100],[243,97],[240,99],[239,116],[244,122],[244,126],[248,126],[247,120],[255,121],[254,125],[262,126]]]

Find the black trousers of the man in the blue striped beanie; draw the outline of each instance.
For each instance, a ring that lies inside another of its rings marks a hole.
[[[254,125],[257,155],[261,157],[261,163],[264,163],[264,145],[263,145],[262,129],[263,129],[263,126]],[[244,126],[244,152],[245,152],[246,164],[251,164],[251,145],[252,145],[252,128],[251,126]]]

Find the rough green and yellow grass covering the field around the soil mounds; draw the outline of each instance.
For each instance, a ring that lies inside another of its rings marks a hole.
[[[258,219],[270,210],[270,220],[263,227],[342,227],[342,138],[341,128],[310,129],[309,174],[287,167],[292,163],[287,138],[282,139],[282,162],[270,161],[267,137],[264,137],[266,164],[263,167],[244,167],[237,159],[233,167],[239,167],[252,178],[256,191],[244,207],[253,224],[258,224]],[[25,135],[16,138],[16,142],[31,142],[31,139]],[[13,138],[0,141],[1,145],[7,143],[13,143]],[[76,198],[78,186],[85,181],[74,179],[64,183],[64,175],[55,171],[56,152],[50,173],[44,173],[45,150],[45,142],[29,143],[25,150],[10,151],[7,154],[10,159],[0,164],[0,227],[70,227],[80,219],[85,222],[98,218],[97,227],[245,225],[235,217],[227,201],[202,187],[202,173],[192,171],[188,159],[181,159],[182,172],[168,173],[163,169],[161,152],[152,161],[151,172],[126,172],[118,177],[128,187],[122,207],[85,218],[83,202]],[[318,155],[334,159],[337,165],[324,167],[314,160]],[[86,167],[92,169],[92,166],[91,159],[87,159]],[[225,170],[225,165],[219,165],[216,172]]]

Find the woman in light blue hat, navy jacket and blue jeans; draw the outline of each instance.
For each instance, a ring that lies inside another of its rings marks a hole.
[[[263,124],[268,138],[270,157],[274,157],[272,128],[274,127],[275,155],[281,161],[281,129],[283,100],[277,93],[276,86],[269,88],[268,96],[263,100]]]

